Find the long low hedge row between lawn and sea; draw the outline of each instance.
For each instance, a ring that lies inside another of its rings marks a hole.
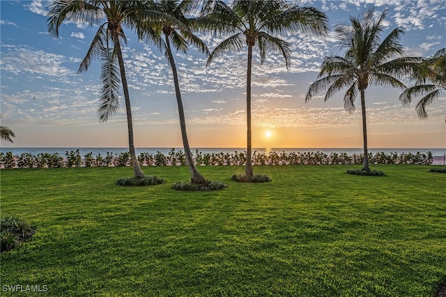
[[[138,160],[141,166],[186,166],[185,153],[174,148],[164,155],[160,151],[156,154],[140,153]],[[194,160],[199,166],[225,166],[245,165],[246,152],[238,153],[202,153],[196,151]],[[321,152],[291,152],[291,153],[257,153],[252,154],[253,165],[360,165],[364,162],[364,155],[347,153]],[[370,164],[415,164],[431,165],[432,153],[369,153]],[[13,155],[12,152],[0,153],[2,168],[58,168],[58,167],[121,167],[131,166],[130,153],[113,154],[107,152],[105,156],[100,154],[93,157],[93,153],[87,153],[84,158],[76,151],[66,151],[65,158],[58,153],[22,153]]]

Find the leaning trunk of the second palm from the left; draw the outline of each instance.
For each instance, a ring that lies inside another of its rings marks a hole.
[[[178,114],[180,116],[180,128],[181,128],[181,137],[183,138],[183,146],[184,152],[187,160],[187,166],[189,167],[190,172],[190,180],[192,183],[204,184],[206,183],[206,178],[204,178],[195,167],[194,160],[192,158],[192,153],[190,152],[189,141],[187,140],[187,132],[186,132],[186,121],[184,116],[183,109],[183,100],[181,100],[181,92],[180,92],[180,84],[178,82],[178,72],[176,70],[176,65],[174,61],[174,56],[172,55],[169,36],[164,34],[166,37],[167,44],[167,56],[169,56],[169,63],[172,68],[172,74],[174,75],[174,84],[175,84],[175,93],[176,93],[176,102],[178,104]]]

